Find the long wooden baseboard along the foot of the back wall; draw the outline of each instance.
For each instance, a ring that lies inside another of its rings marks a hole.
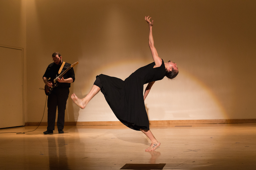
[[[221,124],[221,123],[256,123],[256,119],[214,119],[214,120],[167,120],[149,121],[149,124]],[[38,126],[39,122],[27,122],[25,126]],[[57,122],[55,122],[57,125]],[[65,122],[65,126],[79,125],[123,125],[119,121],[104,122]],[[41,122],[40,126],[47,126],[47,122]]]

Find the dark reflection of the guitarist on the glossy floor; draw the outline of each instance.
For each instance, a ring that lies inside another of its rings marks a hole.
[[[48,152],[49,152],[49,168],[51,170],[69,170],[68,157],[66,155],[66,143],[63,136],[49,136]]]

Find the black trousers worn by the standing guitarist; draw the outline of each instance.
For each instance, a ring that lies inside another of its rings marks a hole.
[[[58,129],[64,128],[65,122],[65,109],[68,100],[69,89],[55,87],[52,89],[52,93],[48,95],[47,107],[48,107],[48,126],[47,130],[54,130],[56,110],[58,107]]]

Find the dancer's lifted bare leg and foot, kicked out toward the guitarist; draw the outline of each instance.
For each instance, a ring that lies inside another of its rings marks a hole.
[[[98,93],[100,92],[100,87],[97,85],[93,85],[91,91],[85,96],[83,99],[79,99],[75,93],[71,94],[71,99],[73,102],[79,106],[80,108],[84,109],[88,102]]]

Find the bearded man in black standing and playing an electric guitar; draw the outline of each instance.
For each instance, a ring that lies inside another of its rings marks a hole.
[[[52,92],[48,95],[47,107],[48,107],[48,126],[44,134],[51,134],[54,130],[56,109],[58,107],[58,120],[57,127],[59,133],[64,133],[65,122],[65,109],[68,100],[70,83],[75,81],[75,73],[73,67],[69,69],[61,78],[58,78],[56,83],[53,80],[61,72],[65,71],[71,64],[62,61],[60,53],[52,54],[52,61],[43,76],[44,83],[52,88]],[[62,69],[61,69],[62,67]],[[50,78],[50,79],[49,79]],[[57,86],[55,86],[57,84]]]

